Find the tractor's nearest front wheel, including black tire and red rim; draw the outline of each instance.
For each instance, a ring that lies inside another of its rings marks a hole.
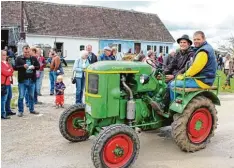
[[[138,157],[140,141],[136,132],[124,124],[111,125],[99,133],[91,158],[96,168],[127,168]]]

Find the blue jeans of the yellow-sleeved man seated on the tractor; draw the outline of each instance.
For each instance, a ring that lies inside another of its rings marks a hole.
[[[184,81],[183,80],[176,80],[176,85],[175,85],[175,81],[172,81],[169,85],[170,85],[170,98],[171,98],[171,101],[173,101],[173,100],[175,100],[175,95],[174,95],[174,91],[173,91],[174,87],[182,88],[184,86]],[[199,88],[196,81],[194,79],[190,79],[190,78],[185,79],[185,87],[186,88]]]

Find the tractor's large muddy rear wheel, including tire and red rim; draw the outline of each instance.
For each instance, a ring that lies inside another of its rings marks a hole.
[[[198,96],[182,114],[175,114],[172,137],[182,151],[195,152],[206,147],[217,128],[217,111],[210,99]]]

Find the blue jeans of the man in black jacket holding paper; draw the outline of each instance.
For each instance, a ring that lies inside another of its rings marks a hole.
[[[24,112],[24,97],[26,91],[28,92],[28,105],[29,111],[34,111],[34,93],[35,93],[35,82],[31,79],[26,79],[22,83],[18,84],[19,87],[19,98],[18,98],[18,111],[19,113]]]

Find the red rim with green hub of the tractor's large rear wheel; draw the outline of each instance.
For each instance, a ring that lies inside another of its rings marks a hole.
[[[210,134],[213,124],[211,113],[206,108],[196,110],[188,121],[188,137],[193,143],[203,142]]]

